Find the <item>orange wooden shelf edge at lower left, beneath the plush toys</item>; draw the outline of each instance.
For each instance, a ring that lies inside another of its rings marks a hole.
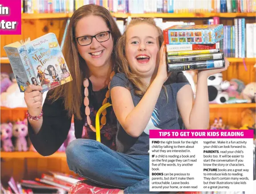
[[[42,156],[38,152],[33,151],[14,151],[14,152],[4,152],[0,153],[1,158],[66,158],[65,152],[55,152],[49,156]]]

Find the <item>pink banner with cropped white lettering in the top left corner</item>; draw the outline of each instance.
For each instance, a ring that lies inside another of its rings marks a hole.
[[[21,0],[0,0],[0,35],[21,34]]]

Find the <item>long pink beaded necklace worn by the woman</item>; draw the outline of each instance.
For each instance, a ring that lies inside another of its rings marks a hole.
[[[110,74],[110,81],[114,77],[114,75],[115,75],[115,72],[112,71],[111,74]],[[87,78],[85,78],[84,81],[83,81],[83,84],[84,84],[84,87],[85,87],[85,91],[84,91],[84,93],[85,93],[84,105],[85,105],[85,115],[86,115],[87,123],[88,123],[90,129],[92,131],[96,132],[96,129],[92,125],[91,119],[90,119],[90,108],[89,108],[89,98],[88,98],[88,96],[89,96],[89,90],[88,90],[89,80]],[[105,99],[102,102],[102,106],[108,102],[109,98],[110,98],[110,83],[108,84],[108,90],[106,92]],[[102,118],[101,118],[100,129],[102,129],[102,127],[106,124],[106,114],[107,114],[107,111],[105,109],[104,111],[102,111]]]

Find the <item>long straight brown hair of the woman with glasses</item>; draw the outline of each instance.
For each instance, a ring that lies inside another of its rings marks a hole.
[[[111,36],[114,41],[114,48],[118,38],[121,36],[121,32],[114,21],[110,12],[102,7],[95,4],[88,4],[78,8],[72,15],[67,35],[65,38],[65,43],[63,47],[63,55],[67,66],[69,68],[70,74],[72,75],[73,81],[65,83],[53,89],[53,93],[50,95],[50,99],[53,101],[63,98],[65,110],[68,111],[69,117],[74,115],[76,119],[82,119],[81,117],[81,106],[82,106],[82,83],[84,78],[88,78],[89,69],[86,65],[85,60],[81,57],[77,50],[77,43],[75,40],[75,28],[77,22],[85,16],[100,16],[106,22],[107,27],[111,31]],[[112,61],[116,60],[116,54],[113,51]]]

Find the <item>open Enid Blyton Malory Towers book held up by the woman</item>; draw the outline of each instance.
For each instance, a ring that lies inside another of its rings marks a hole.
[[[20,92],[29,84],[41,85],[43,91],[72,81],[69,69],[54,33],[35,40],[4,46]]]

